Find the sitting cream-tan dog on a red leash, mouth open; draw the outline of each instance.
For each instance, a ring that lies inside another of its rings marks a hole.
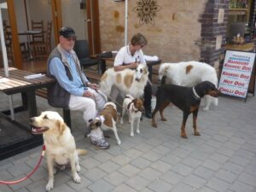
[[[76,149],[74,138],[69,127],[64,123],[59,113],[45,111],[38,117],[31,118],[32,133],[43,134],[46,147],[46,158],[49,172],[49,179],[46,190],[54,187],[54,173],[56,166],[71,166],[73,180],[81,182],[78,172],[79,154],[87,154],[84,149]]]

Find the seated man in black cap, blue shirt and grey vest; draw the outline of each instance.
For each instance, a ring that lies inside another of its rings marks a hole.
[[[82,111],[83,119],[89,128],[90,120],[96,118],[97,110],[101,110],[107,102],[107,96],[98,90],[97,84],[91,84],[81,70],[79,59],[73,50],[76,40],[71,27],[62,27],[60,44],[49,55],[47,76],[55,78],[56,83],[48,90],[49,105],[56,108],[69,108]],[[98,148],[108,148],[102,138],[102,131],[91,137],[91,143]]]

